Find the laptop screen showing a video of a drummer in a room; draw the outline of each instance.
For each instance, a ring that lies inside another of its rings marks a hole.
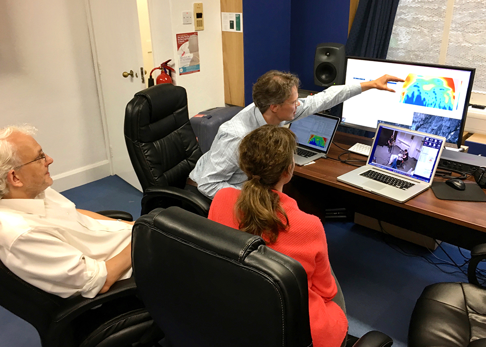
[[[368,165],[431,182],[443,145],[440,137],[381,124],[375,134]]]

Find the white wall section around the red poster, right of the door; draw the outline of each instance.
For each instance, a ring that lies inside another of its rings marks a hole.
[[[171,63],[175,63],[174,68],[178,70],[175,35],[194,32],[194,18],[192,24],[182,24],[182,12],[193,12],[194,2],[193,0],[149,0],[154,66],[172,59]],[[221,3],[220,0],[202,2],[204,30],[197,32],[201,71],[182,76],[176,72],[174,78],[176,85],[186,88],[190,117],[208,108],[225,105]]]

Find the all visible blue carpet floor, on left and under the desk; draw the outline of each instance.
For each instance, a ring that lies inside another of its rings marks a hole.
[[[62,194],[81,209],[123,210],[134,218],[140,215],[142,194],[117,176]],[[330,262],[346,299],[349,333],[354,336],[380,330],[393,338],[394,346],[405,347],[410,315],[423,288],[436,282],[467,281],[462,273],[443,272],[456,268],[437,268],[421,257],[435,263],[449,261],[440,248],[432,254],[351,222],[327,221],[325,230]],[[464,263],[457,247],[442,247],[458,264]],[[468,251],[462,252],[469,257]],[[32,326],[0,307],[0,346],[40,347],[40,340]]]

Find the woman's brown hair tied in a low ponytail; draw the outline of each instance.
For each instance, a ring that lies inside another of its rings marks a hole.
[[[239,148],[240,168],[248,177],[236,202],[239,229],[266,235],[276,242],[278,232],[289,227],[289,218],[273,190],[284,172],[294,165],[295,134],[288,128],[264,125],[247,134]],[[286,223],[282,223],[283,215]]]

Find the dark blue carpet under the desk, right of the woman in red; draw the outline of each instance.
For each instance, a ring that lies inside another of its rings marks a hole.
[[[393,236],[347,222],[325,223],[329,258],[346,299],[349,333],[362,336],[379,330],[405,347],[410,316],[422,290],[429,284],[467,281],[460,273],[446,274],[457,268],[429,264],[420,255],[442,263],[446,255],[437,248],[434,254],[423,247]],[[458,248],[442,244],[457,263],[464,258]],[[400,250],[418,256],[405,255]],[[462,250],[467,257],[470,252]],[[448,259],[447,259],[448,260]]]

